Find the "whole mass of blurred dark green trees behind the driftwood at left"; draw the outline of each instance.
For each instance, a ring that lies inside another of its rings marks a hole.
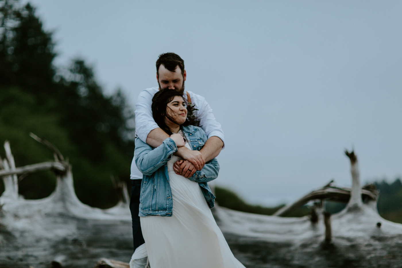
[[[129,182],[134,152],[134,116],[125,96],[121,90],[105,96],[83,59],[53,66],[52,33],[31,4],[0,0],[0,21],[0,143],[9,140],[16,165],[23,166],[53,159],[29,132],[46,138],[70,159],[78,198],[112,206],[111,176]],[[19,192],[43,198],[54,186],[53,173],[43,172],[24,177]]]

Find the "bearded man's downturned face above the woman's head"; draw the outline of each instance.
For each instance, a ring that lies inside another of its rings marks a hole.
[[[161,64],[159,66],[159,75],[156,73],[159,89],[175,89],[181,94],[184,92],[184,81],[186,80],[186,70],[181,75],[180,67],[177,66],[175,72],[170,72]]]

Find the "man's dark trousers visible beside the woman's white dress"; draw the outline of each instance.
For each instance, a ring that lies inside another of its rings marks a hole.
[[[133,179],[133,187],[131,188],[130,211],[131,219],[133,221],[133,242],[134,250],[140,245],[144,244],[144,237],[142,237],[141,223],[139,222],[139,193],[141,190],[142,179]]]

